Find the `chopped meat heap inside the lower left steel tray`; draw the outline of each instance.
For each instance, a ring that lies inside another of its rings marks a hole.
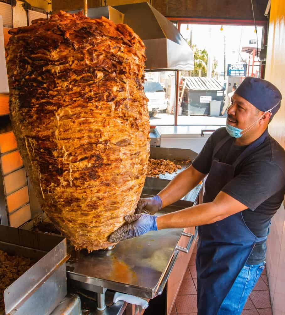
[[[34,263],[30,258],[10,256],[0,249],[0,312],[4,310],[4,290]]]

